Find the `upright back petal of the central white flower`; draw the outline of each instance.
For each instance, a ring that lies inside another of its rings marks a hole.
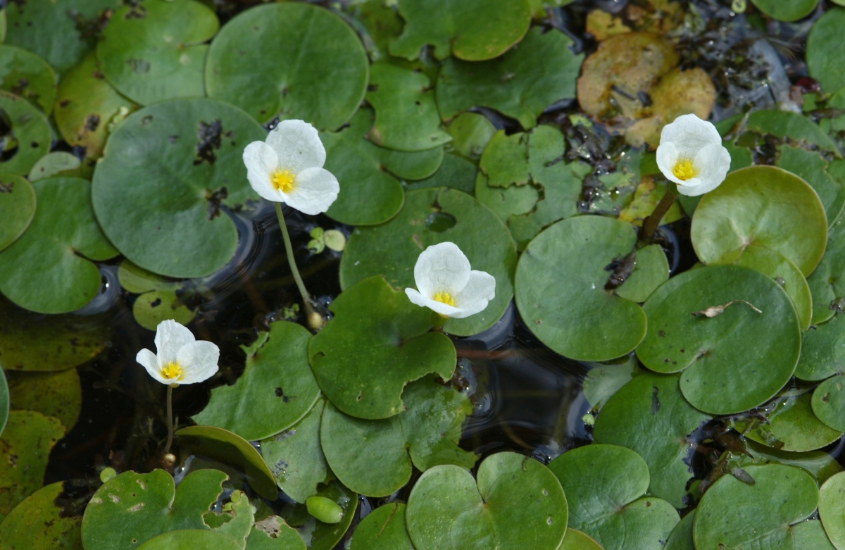
[[[414,265],[417,288],[429,299],[437,292],[449,292],[455,297],[469,279],[470,261],[454,242],[440,242],[426,248]]]

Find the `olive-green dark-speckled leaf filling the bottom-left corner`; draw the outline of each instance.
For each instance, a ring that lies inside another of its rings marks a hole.
[[[18,504],[3,523],[0,541],[3,548],[28,550],[82,550],[79,524],[82,518],[63,515],[56,498],[63,492],[63,482],[42,487]]]

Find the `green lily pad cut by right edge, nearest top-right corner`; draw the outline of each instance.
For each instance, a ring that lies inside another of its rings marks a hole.
[[[845,87],[845,70],[841,63],[837,63],[838,52],[845,47],[843,26],[845,9],[832,8],[815,22],[807,36],[807,69],[810,76],[819,81],[822,90],[829,94]]]

